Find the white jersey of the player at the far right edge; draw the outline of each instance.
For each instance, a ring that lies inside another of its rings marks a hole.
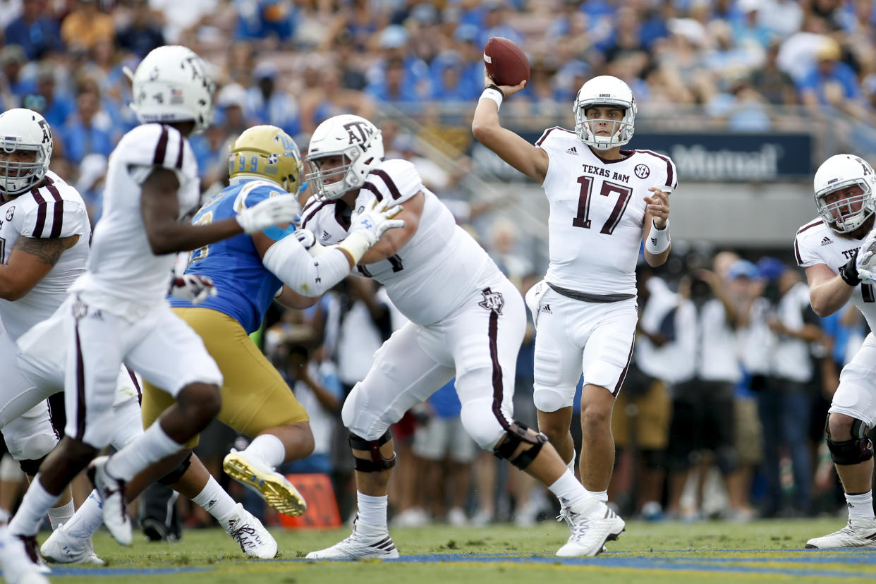
[[[851,255],[861,247],[863,239],[846,239],[837,236],[824,222],[814,219],[803,225],[794,240],[794,256],[797,265],[808,268],[810,265],[826,264],[830,270],[839,269],[848,263]],[[851,302],[864,314],[871,330],[876,330],[876,291],[874,286],[863,284],[855,286],[851,292]]]

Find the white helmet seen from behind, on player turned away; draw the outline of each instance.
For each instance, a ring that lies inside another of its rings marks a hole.
[[[215,83],[207,66],[185,46],[152,49],[131,75],[131,109],[140,123],[194,122],[194,134],[213,122]]]

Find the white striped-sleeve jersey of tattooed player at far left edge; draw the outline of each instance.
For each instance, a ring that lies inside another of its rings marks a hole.
[[[67,298],[67,288],[85,271],[88,259],[91,225],[82,197],[51,171],[41,184],[0,205],[0,260],[8,263],[19,237],[79,239],[24,297],[0,299],[0,320],[13,341],[52,316]]]

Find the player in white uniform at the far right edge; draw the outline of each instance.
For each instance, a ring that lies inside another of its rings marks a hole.
[[[871,331],[876,330],[876,175],[863,158],[837,154],[818,167],[813,183],[820,216],[803,225],[794,240],[797,265],[805,268],[809,281],[812,310],[828,316],[851,300]],[[849,522],[838,531],[809,539],[806,547],[876,546],[873,446],[867,438],[874,423],[876,338],[871,332],[840,373],[826,424],[827,446],[843,483]]]

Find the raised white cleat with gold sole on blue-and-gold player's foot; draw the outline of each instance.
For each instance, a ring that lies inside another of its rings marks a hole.
[[[258,493],[269,505],[284,515],[298,517],[307,510],[307,502],[285,476],[263,461],[231,449],[222,468],[232,479]]]

